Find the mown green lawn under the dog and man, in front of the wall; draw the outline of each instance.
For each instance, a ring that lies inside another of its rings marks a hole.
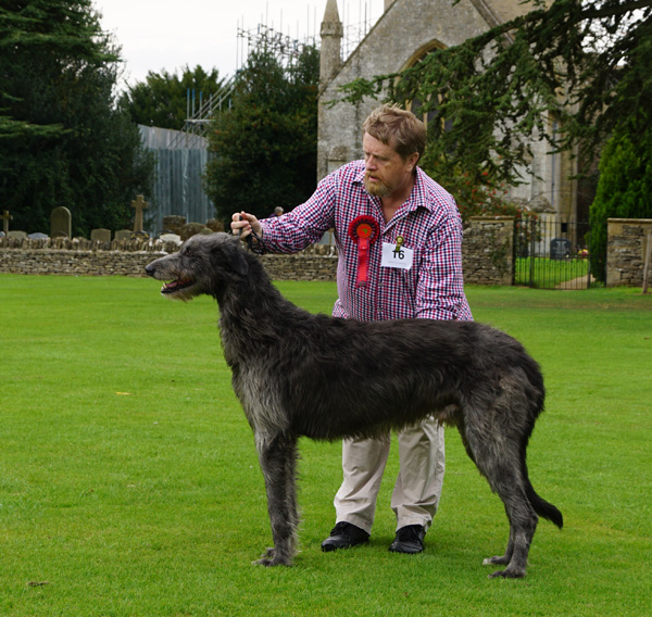
[[[390,554],[390,456],[368,546],[324,554],[339,443],[302,442],[301,553],[271,543],[253,438],[213,300],[134,278],[0,275],[0,616],[644,616],[652,614],[652,297],[467,290],[548,388],[528,451],[541,521],[523,580],[489,580],[502,504],[447,432],[440,511],[417,556]],[[328,313],[333,284],[283,282]],[[417,358],[415,358],[417,361]]]

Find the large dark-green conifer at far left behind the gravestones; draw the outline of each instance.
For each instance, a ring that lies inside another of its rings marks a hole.
[[[65,205],[73,232],[118,229],[153,165],[114,105],[118,50],[90,0],[0,8],[0,202],[14,225],[48,230]]]

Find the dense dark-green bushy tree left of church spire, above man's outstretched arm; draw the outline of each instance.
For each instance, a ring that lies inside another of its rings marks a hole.
[[[255,51],[236,76],[233,108],[211,125],[208,194],[217,215],[266,217],[315,187],[319,56],[305,47],[288,66]]]

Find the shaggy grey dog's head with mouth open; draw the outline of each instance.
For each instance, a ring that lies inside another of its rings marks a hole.
[[[170,281],[161,288],[163,295],[188,301],[202,293],[215,295],[221,281],[247,276],[249,263],[240,241],[218,232],[192,236],[177,253],[152,262],[145,272]]]

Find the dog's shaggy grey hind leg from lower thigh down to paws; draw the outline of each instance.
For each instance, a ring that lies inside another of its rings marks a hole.
[[[498,494],[510,521],[510,540],[504,555],[485,559],[487,565],[506,565],[490,577],[521,578],[525,576],[527,555],[539,517],[526,493],[522,474],[521,448],[510,437],[491,427],[464,427],[464,441],[479,471]]]

